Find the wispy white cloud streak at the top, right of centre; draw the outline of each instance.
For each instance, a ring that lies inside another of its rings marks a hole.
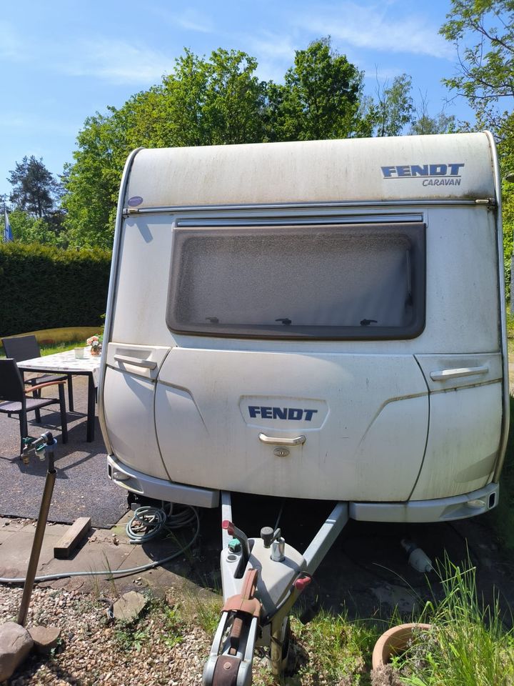
[[[438,27],[428,24],[426,17],[407,15],[405,5],[395,16],[385,16],[387,9],[383,4],[363,6],[343,2],[337,7],[318,6],[316,14],[297,16],[296,23],[303,29],[322,36],[331,35],[357,48],[453,57],[453,48],[438,35]]]

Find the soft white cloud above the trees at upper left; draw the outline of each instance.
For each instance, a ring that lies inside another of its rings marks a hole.
[[[74,56],[61,61],[72,76],[94,76],[115,84],[151,85],[173,70],[174,59],[137,41],[99,39],[81,43]]]

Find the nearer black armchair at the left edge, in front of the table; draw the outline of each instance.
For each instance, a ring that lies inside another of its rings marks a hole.
[[[18,369],[15,359],[0,359],[0,412],[4,414],[18,414],[20,424],[20,454],[23,452],[23,439],[28,435],[27,413],[36,412],[41,407],[47,407],[59,403],[61,412],[62,442],[68,442],[68,423],[66,421],[66,403],[64,402],[64,384],[66,379],[60,381],[44,382],[36,384],[30,389],[24,386],[24,380]],[[27,393],[33,390],[41,390],[49,386],[59,388],[59,398],[27,397]]]

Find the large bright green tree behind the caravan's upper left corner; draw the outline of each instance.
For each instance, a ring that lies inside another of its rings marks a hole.
[[[262,140],[265,89],[256,67],[241,51],[219,49],[205,59],[186,50],[161,84],[86,119],[65,182],[71,244],[111,246],[121,172],[132,149]]]

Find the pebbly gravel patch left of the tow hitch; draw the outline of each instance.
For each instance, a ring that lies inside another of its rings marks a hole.
[[[0,586],[0,623],[16,618],[21,592]],[[108,607],[91,595],[35,587],[27,626],[60,627],[61,645],[50,657],[31,654],[9,686],[201,684],[211,637],[200,627],[166,602],[153,602],[129,630],[109,620]]]

